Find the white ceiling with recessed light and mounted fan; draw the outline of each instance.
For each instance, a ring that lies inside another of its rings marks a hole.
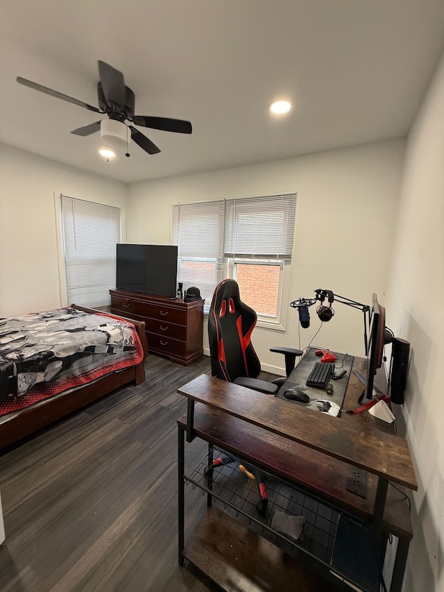
[[[404,137],[444,51],[443,0],[15,0],[0,19],[0,142],[132,183]],[[101,117],[16,82],[97,105],[97,61],[125,76],[139,128],[105,162]],[[293,101],[286,117],[268,104]]]

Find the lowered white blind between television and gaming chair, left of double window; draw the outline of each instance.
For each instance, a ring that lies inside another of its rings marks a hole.
[[[223,200],[173,205],[178,282],[183,289],[198,287],[205,307],[222,279],[224,212]]]

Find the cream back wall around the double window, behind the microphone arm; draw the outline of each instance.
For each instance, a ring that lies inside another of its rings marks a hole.
[[[262,368],[284,370],[283,357],[272,345],[299,346],[298,313],[288,305],[317,288],[360,303],[373,292],[384,304],[387,258],[398,208],[404,142],[395,140],[289,158],[250,167],[167,178],[130,185],[128,242],[169,244],[171,205],[234,196],[298,192],[291,289],[286,299],[285,333],[255,328],[253,344]],[[364,316],[337,304],[314,344],[364,355]],[[311,325],[300,330],[300,344],[309,344],[320,325],[311,307]],[[388,325],[390,326],[390,316]],[[207,329],[204,330],[207,350]]]

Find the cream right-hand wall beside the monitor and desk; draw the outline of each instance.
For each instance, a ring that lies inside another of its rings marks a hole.
[[[388,286],[392,328],[412,350],[402,412],[419,490],[405,592],[444,591],[443,122],[444,56],[409,135]]]

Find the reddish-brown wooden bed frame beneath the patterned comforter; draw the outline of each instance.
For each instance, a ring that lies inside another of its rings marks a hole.
[[[100,310],[77,306],[75,304],[71,305],[71,307],[91,314],[103,314]],[[114,391],[114,389],[123,387],[123,385],[130,382],[141,384],[145,381],[145,360],[148,352],[145,323],[126,319],[124,316],[119,316],[118,318],[135,325],[137,335],[139,335],[142,347],[144,348],[142,362],[137,364],[137,366],[130,366],[129,368],[107,374],[95,382],[76,388],[75,391],[70,390],[67,394],[60,393],[39,401],[30,407],[25,407],[19,412],[12,412],[0,417],[0,449],[28,436],[28,434],[40,430],[40,428],[44,428],[45,425],[49,425],[53,421],[76,411],[76,409],[80,409],[80,407],[103,397]]]

